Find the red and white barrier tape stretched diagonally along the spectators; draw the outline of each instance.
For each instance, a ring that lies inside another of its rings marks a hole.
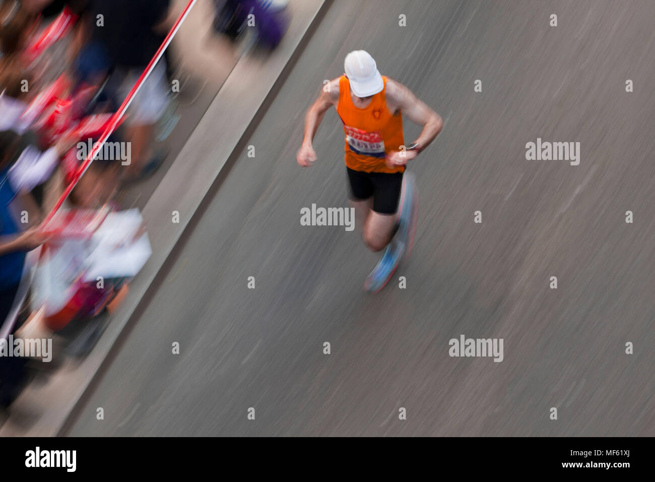
[[[179,27],[181,26],[182,22],[184,22],[184,19],[187,18],[189,11],[193,7],[193,5],[195,5],[196,1],[197,0],[189,1],[189,3],[187,3],[187,6],[184,8],[184,10],[182,10],[182,13],[179,15],[178,20],[176,20],[175,24],[166,35],[166,38],[162,42],[162,45],[160,45],[159,49],[157,49],[157,52],[155,52],[155,56],[151,58],[149,64],[147,65],[143,73],[141,73],[141,77],[139,77],[138,81],[136,81],[136,84],[134,84],[134,87],[132,87],[132,90],[130,90],[128,96],[125,98],[125,100],[123,100],[119,110],[117,110],[116,113],[111,117],[111,121],[109,122],[107,129],[105,129],[105,131],[102,133],[102,136],[100,136],[98,142],[94,143],[94,148],[90,151],[90,153],[88,153],[86,159],[84,159],[84,163],[82,163],[82,165],[75,173],[75,176],[73,177],[71,182],[69,182],[69,184],[66,186],[64,193],[59,198],[59,201],[57,201],[57,204],[52,209],[52,211],[50,211],[50,214],[48,214],[48,217],[46,218],[43,224],[47,224],[47,222],[52,219],[52,216],[54,216],[54,214],[57,211],[59,211],[60,207],[62,207],[62,205],[64,204],[66,198],[69,196],[73,188],[75,188],[77,182],[79,182],[84,172],[86,172],[86,169],[88,169],[88,167],[93,162],[93,158],[96,156],[96,153],[98,153],[98,151],[102,149],[102,146],[105,144],[107,138],[109,138],[109,136],[111,136],[111,134],[115,131],[125,111],[130,106],[130,104],[132,104],[132,100],[134,99],[134,96],[136,96],[136,93],[139,91],[139,89],[141,89],[141,85],[143,85],[143,81],[145,81],[146,77],[150,75],[151,71],[153,71],[153,69],[155,68],[157,62],[159,62],[159,59],[164,54],[164,50],[166,50],[166,47],[168,47],[170,41],[173,39],[173,37],[175,37],[175,34],[178,33]]]

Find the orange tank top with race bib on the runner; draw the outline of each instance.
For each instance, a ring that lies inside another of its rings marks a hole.
[[[371,98],[364,109],[356,107],[350,98],[350,82],[339,79],[339,104],[337,113],[346,133],[346,166],[364,172],[403,172],[404,166],[387,167],[384,157],[389,151],[397,151],[403,140],[403,116],[400,111],[393,115],[386,107],[386,77],[384,88]]]

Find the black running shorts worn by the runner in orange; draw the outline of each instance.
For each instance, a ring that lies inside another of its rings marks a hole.
[[[353,171],[349,167],[350,199],[364,201],[373,196],[373,211],[380,214],[394,214],[398,211],[403,173]]]

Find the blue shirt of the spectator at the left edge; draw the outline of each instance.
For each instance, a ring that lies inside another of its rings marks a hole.
[[[9,168],[0,171],[0,236],[2,237],[20,233],[9,211],[9,203],[16,197],[16,193],[10,185],[8,172]],[[26,253],[23,251],[9,252],[0,256],[0,290],[18,285],[23,273],[25,256]]]

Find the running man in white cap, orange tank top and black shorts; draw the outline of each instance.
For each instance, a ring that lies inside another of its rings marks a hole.
[[[335,106],[346,134],[350,203],[363,227],[364,243],[371,251],[386,248],[364,285],[367,291],[379,291],[413,241],[418,199],[413,178],[406,176],[403,182],[405,165],[436,138],[443,121],[407,87],[381,75],[364,50],[350,52],[344,64],[345,74],[330,81],[307,111],[296,158],[302,167],[316,161],[314,134],[326,111]],[[409,146],[403,139],[403,113],[423,126]]]

